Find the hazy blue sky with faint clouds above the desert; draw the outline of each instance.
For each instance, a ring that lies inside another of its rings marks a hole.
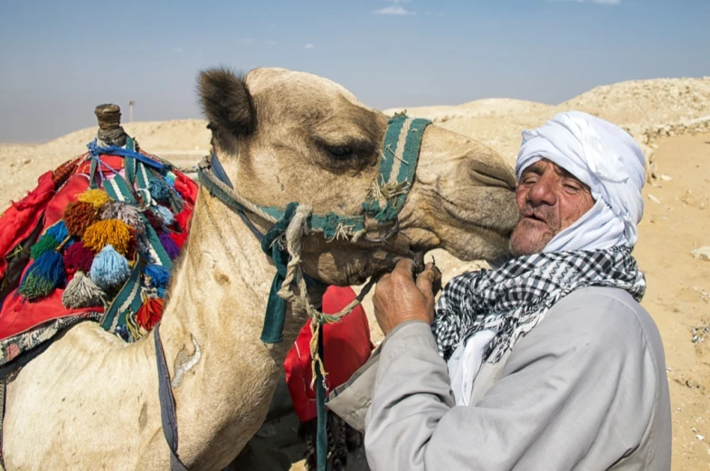
[[[374,108],[558,103],[620,80],[710,75],[710,0],[0,0],[0,141],[200,118],[198,71],[279,66]]]

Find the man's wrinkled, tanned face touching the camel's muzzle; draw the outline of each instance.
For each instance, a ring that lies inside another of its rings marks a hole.
[[[594,205],[589,186],[561,166],[542,159],[528,166],[516,191],[520,221],[510,238],[514,255],[543,251],[547,242]]]

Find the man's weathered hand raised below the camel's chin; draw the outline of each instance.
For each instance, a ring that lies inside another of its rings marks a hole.
[[[413,265],[411,259],[401,259],[392,273],[380,278],[374,289],[374,317],[385,335],[402,322],[423,321],[431,325],[434,320],[432,287],[440,287],[441,273],[427,263],[415,283]]]

